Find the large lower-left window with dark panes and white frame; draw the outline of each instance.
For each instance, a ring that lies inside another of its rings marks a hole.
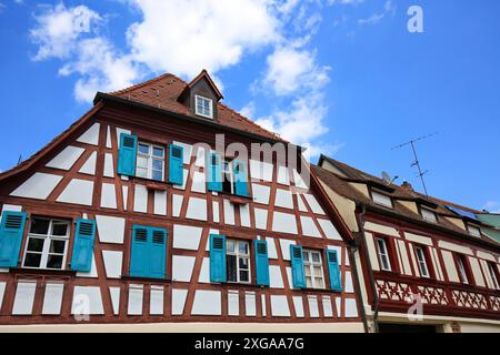
[[[28,233],[24,267],[64,268],[70,222],[33,217]]]

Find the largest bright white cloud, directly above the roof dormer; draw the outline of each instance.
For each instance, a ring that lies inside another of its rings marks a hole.
[[[131,2],[143,18],[129,28],[128,42],[133,59],[154,72],[217,72],[279,38],[271,0]]]

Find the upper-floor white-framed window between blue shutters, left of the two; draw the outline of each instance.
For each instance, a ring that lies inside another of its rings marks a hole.
[[[139,142],[137,150],[136,176],[163,181],[164,149]]]

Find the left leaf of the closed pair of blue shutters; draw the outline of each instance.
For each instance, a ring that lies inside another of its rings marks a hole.
[[[149,227],[147,226],[132,226],[130,276],[148,277],[149,234]]]

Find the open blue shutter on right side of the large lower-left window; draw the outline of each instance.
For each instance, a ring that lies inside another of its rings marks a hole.
[[[71,270],[89,272],[92,266],[96,221],[77,220]]]

